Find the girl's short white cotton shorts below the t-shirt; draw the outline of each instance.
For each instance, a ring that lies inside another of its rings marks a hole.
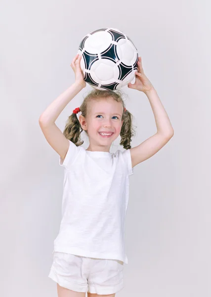
[[[72,291],[109,295],[124,288],[123,267],[124,262],[119,260],[54,251],[48,277]]]

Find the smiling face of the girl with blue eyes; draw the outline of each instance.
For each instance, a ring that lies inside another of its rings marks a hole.
[[[112,142],[120,135],[123,120],[123,104],[113,98],[92,99],[88,106],[84,130],[89,137],[88,150],[109,151]],[[112,133],[103,137],[100,132]]]

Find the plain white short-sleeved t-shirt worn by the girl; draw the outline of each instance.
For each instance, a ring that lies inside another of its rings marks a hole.
[[[130,150],[87,151],[69,142],[63,162],[59,157],[65,172],[62,220],[54,251],[127,264],[125,217],[133,174]]]

